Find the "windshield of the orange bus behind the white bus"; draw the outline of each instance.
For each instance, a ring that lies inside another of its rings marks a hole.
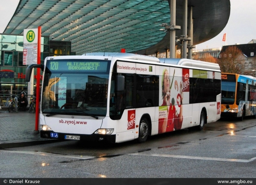
[[[221,104],[234,104],[236,94],[235,81],[221,82]]]

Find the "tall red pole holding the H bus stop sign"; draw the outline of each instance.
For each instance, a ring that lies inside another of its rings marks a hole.
[[[38,51],[37,64],[41,64],[41,26],[38,26]],[[39,125],[39,96],[40,96],[40,68],[37,68],[36,77],[36,100],[35,100],[35,131],[38,131]]]

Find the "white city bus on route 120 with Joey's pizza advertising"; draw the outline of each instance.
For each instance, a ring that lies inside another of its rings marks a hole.
[[[43,70],[42,138],[125,142],[220,118],[218,64],[131,53],[47,57]]]

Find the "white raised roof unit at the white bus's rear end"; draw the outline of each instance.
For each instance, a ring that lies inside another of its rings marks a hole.
[[[180,66],[191,66],[191,67],[200,67],[205,69],[214,69],[220,70],[220,66],[215,63],[196,61],[187,58],[159,58],[161,63],[166,64],[175,64]]]

